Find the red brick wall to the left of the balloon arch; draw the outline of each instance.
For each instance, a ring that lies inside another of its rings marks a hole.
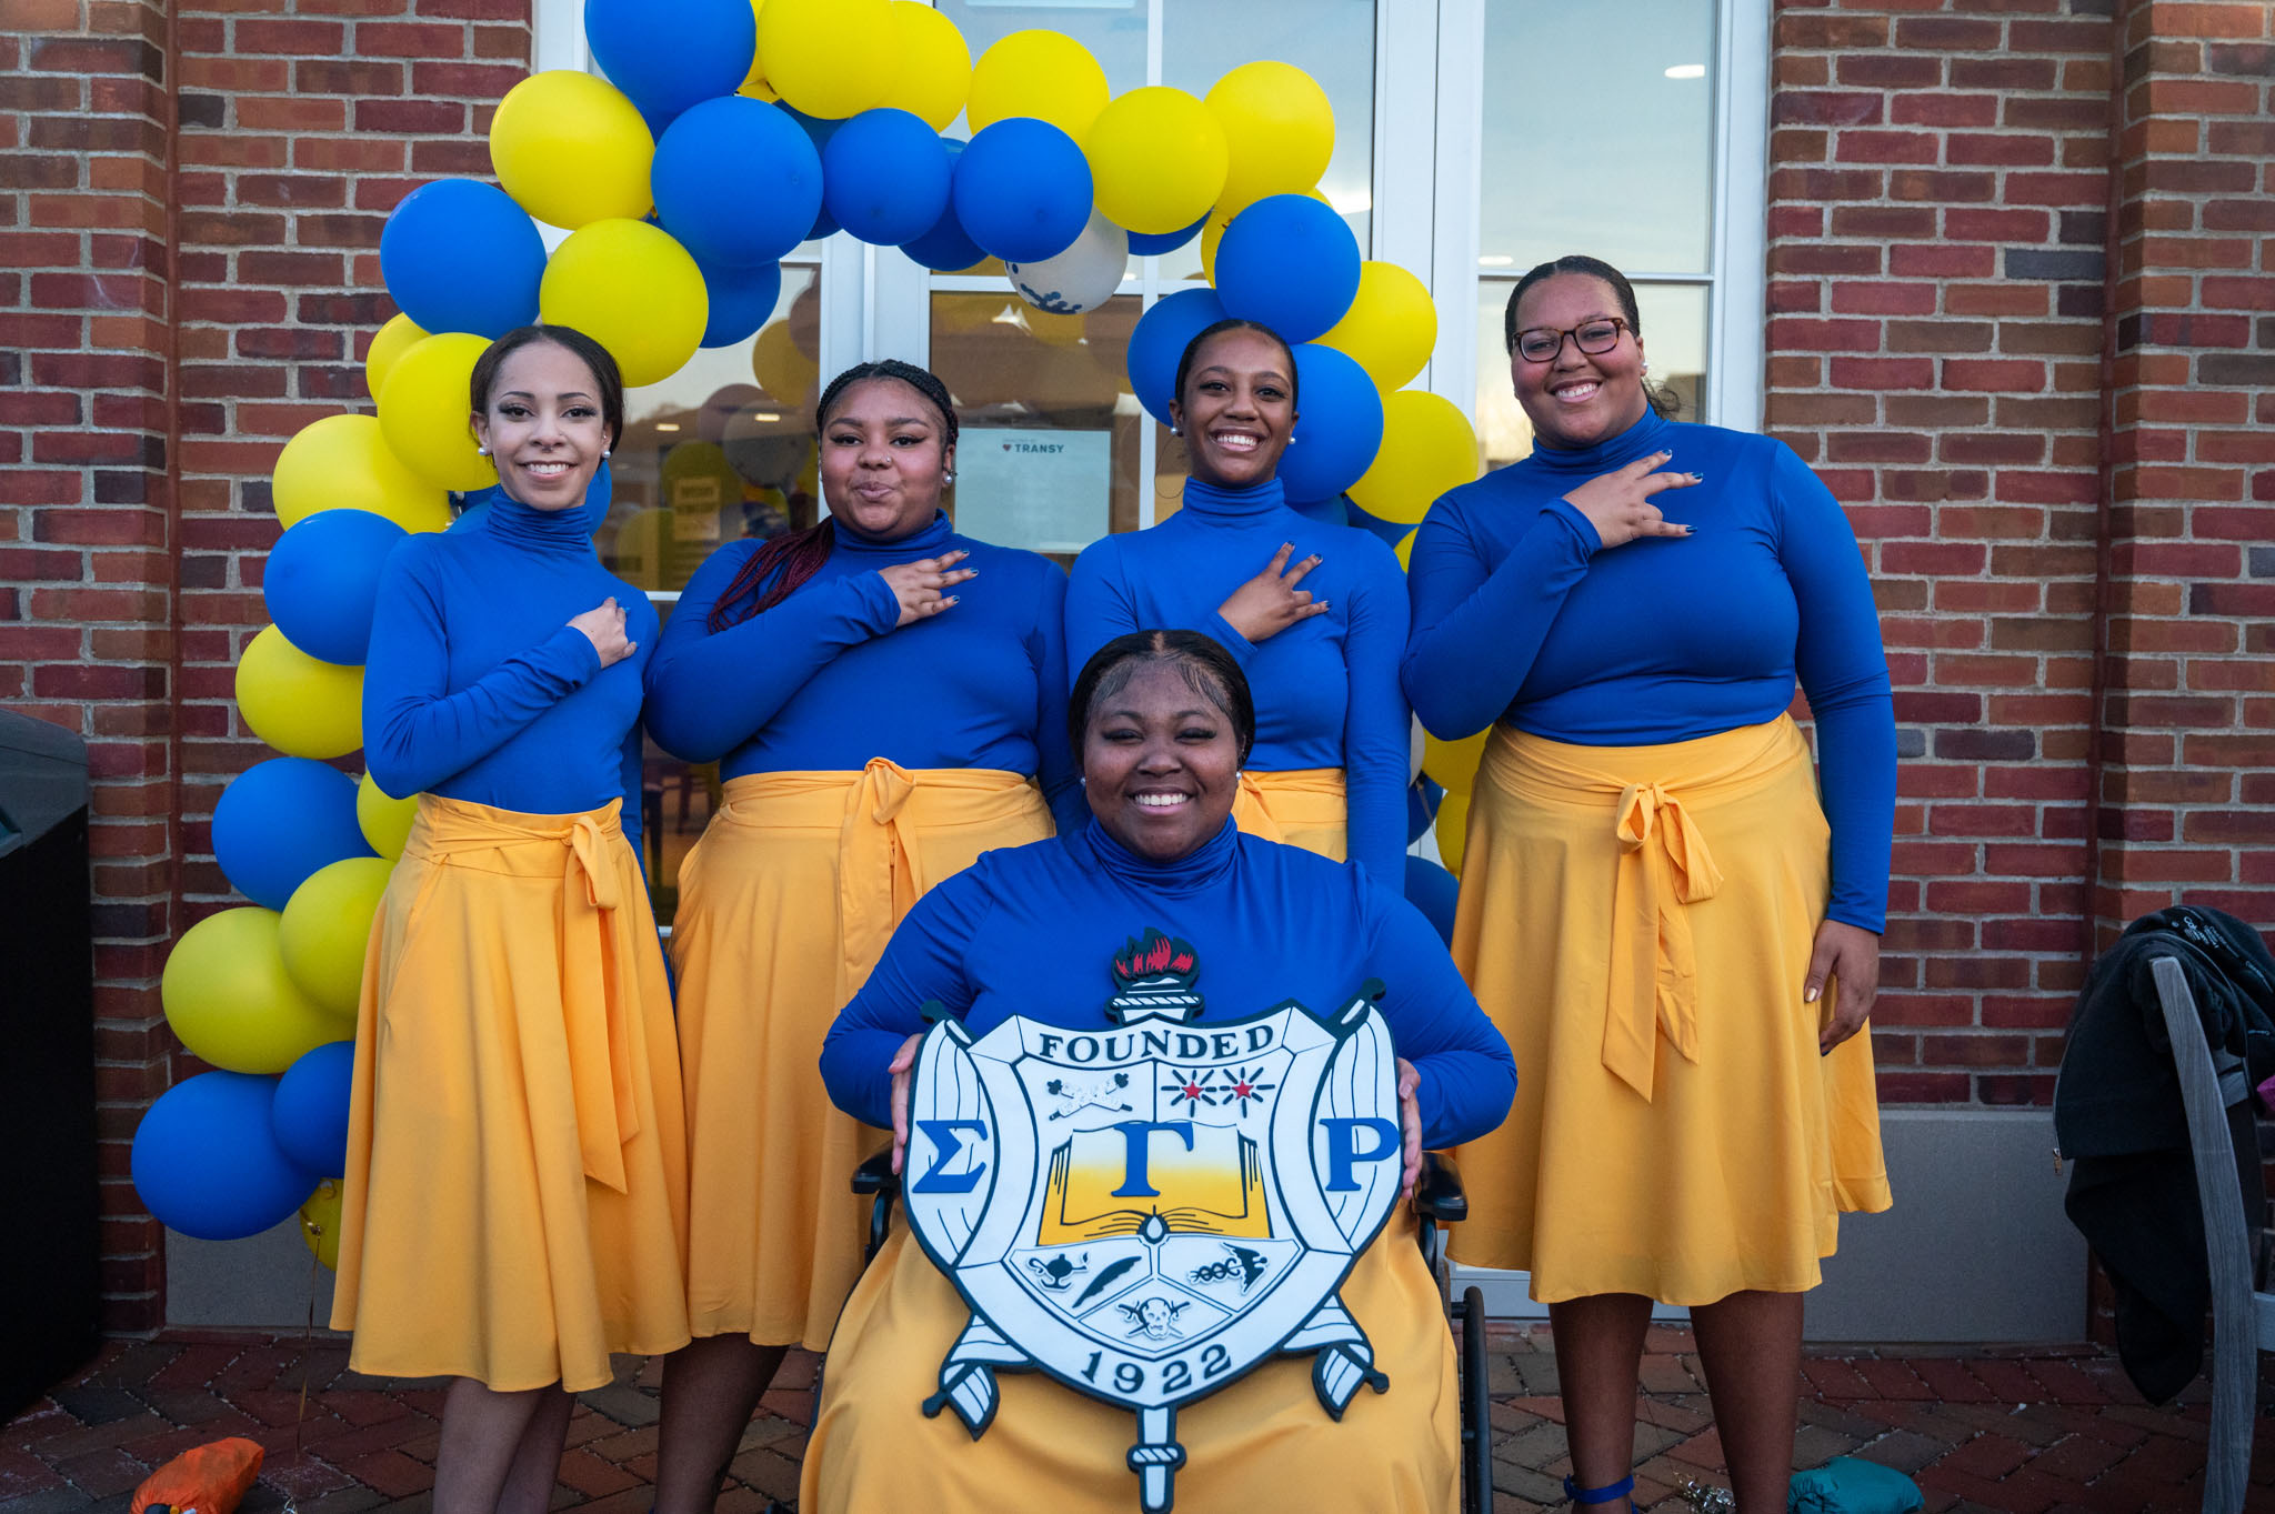
[[[0,18],[0,702],[93,750],[105,1293],[136,1330],[164,1268],[127,1139],[189,1071],[157,978],[232,902],[207,821],[271,755],[232,696],[266,623],[268,471],[300,425],[369,409],[380,227],[414,184],[489,173],[528,0]]]

